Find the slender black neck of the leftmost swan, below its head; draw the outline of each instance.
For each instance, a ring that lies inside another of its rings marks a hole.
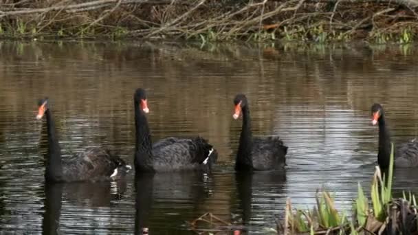
[[[45,111],[47,117],[48,157],[46,159],[45,179],[47,181],[61,181],[63,179],[63,165],[61,163],[61,148],[58,144],[55,122],[50,109]]]

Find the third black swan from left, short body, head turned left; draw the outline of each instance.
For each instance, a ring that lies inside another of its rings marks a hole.
[[[287,146],[280,137],[252,138],[250,108],[244,94],[234,98],[236,120],[242,113],[243,127],[236,153],[235,170],[282,170],[286,166]]]

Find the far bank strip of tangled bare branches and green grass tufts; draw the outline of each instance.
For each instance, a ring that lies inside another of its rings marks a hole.
[[[5,0],[0,38],[412,43],[417,0]]]

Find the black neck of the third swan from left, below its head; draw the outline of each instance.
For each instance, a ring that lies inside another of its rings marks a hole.
[[[238,153],[236,153],[236,170],[252,169],[252,132],[251,132],[251,118],[250,108],[248,104],[242,107],[243,113],[243,127],[241,136],[239,137]]]

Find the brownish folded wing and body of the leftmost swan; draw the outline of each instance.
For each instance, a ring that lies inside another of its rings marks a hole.
[[[119,157],[102,148],[87,148],[74,157],[63,161],[63,173],[69,181],[97,180],[110,177],[118,166],[125,165]]]

